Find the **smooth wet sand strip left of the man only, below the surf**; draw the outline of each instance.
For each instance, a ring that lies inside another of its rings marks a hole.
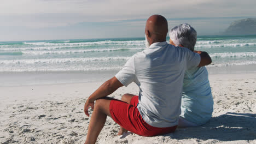
[[[118,70],[0,72],[0,87],[100,82],[117,73]]]

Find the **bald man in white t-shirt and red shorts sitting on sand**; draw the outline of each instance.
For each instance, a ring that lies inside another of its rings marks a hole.
[[[165,17],[150,16],[145,28],[150,45],[148,49],[133,55],[117,75],[103,83],[86,100],[85,114],[89,116],[90,106],[94,112],[85,143],[96,142],[107,116],[122,127],[121,131],[130,130],[142,136],[171,133],[176,129],[181,113],[184,72],[191,67],[210,64],[211,58],[206,52],[199,55],[187,48],[167,44],[167,32]],[[132,95],[126,99],[131,104],[106,98],[131,82],[139,87],[137,98]]]

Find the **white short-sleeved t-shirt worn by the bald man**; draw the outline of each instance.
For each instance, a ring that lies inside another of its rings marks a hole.
[[[139,113],[153,127],[178,124],[181,114],[182,85],[185,70],[197,67],[200,55],[167,42],[154,43],[133,55],[115,77],[128,86],[139,87]]]

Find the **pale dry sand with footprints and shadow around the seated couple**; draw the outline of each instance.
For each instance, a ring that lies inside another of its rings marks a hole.
[[[102,82],[0,87],[0,143],[83,143],[90,117],[86,98]],[[116,136],[111,118],[97,143],[256,143],[256,73],[210,75],[214,111],[200,127],[178,128],[172,134]],[[138,94],[137,86],[109,95]],[[92,112],[92,111],[90,111]]]

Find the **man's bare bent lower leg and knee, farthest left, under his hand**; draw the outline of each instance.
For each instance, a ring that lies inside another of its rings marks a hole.
[[[96,142],[98,135],[104,127],[107,116],[111,117],[109,112],[109,104],[109,98],[96,100],[94,111],[92,112],[91,120],[89,123],[88,133],[85,141],[86,144]]]

